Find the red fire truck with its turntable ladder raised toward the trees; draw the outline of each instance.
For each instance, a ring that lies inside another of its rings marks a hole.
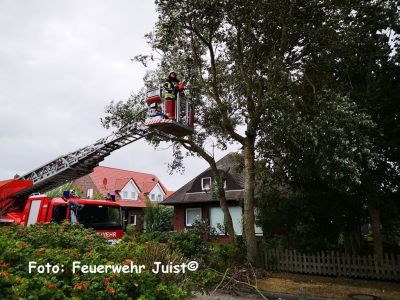
[[[162,90],[149,91],[145,123],[134,122],[95,143],[60,156],[17,178],[0,181],[0,225],[29,226],[44,222],[79,222],[95,229],[106,239],[118,240],[123,235],[123,214],[116,201],[83,199],[65,192],[63,197],[50,198],[45,192],[87,175],[114,150],[142,139],[150,133],[185,136],[193,132],[193,116],[189,103],[181,109],[178,96],[176,118],[160,118],[154,104],[165,107]]]

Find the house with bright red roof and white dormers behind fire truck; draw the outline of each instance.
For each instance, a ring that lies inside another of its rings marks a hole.
[[[80,189],[82,197],[94,198],[98,195],[115,195],[115,200],[125,210],[125,223],[143,229],[146,197],[150,201],[161,202],[172,192],[153,174],[121,170],[99,166],[93,172],[73,183]]]

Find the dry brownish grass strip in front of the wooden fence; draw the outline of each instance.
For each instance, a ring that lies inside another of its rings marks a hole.
[[[350,299],[349,294],[368,294],[388,300],[400,299],[400,283],[386,281],[271,273],[270,277],[258,280],[258,287],[269,292],[297,295],[300,288],[304,287],[308,296],[331,299]]]

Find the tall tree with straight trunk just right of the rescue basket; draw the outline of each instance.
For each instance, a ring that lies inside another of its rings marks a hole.
[[[286,8],[267,1],[163,0],[156,5],[160,18],[151,38],[164,54],[161,68],[180,65],[190,71],[203,95],[198,111],[205,132],[221,143],[242,145],[245,244],[247,259],[255,263],[255,144],[268,84],[274,81],[267,74],[284,55],[283,38],[274,34],[269,17]]]

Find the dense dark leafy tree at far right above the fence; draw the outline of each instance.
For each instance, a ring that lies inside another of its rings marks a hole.
[[[296,62],[287,96],[265,119],[263,156],[296,191],[312,197],[324,187],[345,200],[337,212],[348,229],[368,207],[381,257],[380,208],[395,203],[399,187],[398,4],[310,5],[309,29],[287,56]]]

